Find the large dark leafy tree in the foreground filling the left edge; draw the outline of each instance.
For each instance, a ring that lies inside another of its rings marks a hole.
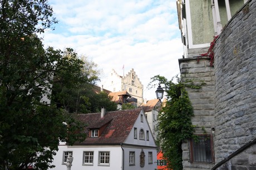
[[[46,0],[0,1],[0,169],[47,169],[59,140],[85,138],[74,115],[45,100],[53,83],[76,86],[82,74],[72,49],[45,50],[36,36],[53,23]]]

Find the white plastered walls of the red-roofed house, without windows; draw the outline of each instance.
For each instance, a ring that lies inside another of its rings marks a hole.
[[[135,128],[137,133],[135,135]],[[144,139],[140,135],[140,131],[144,131]],[[137,138],[136,138],[136,137]],[[111,170],[130,170],[130,169],[145,169],[155,170],[157,167],[157,151],[154,138],[150,131],[149,124],[146,120],[144,112],[141,110],[137,117],[132,130],[126,137],[126,140],[120,145],[73,145],[67,146],[65,143],[60,143],[59,150],[54,157],[53,163],[56,167],[54,170],[66,169],[66,163],[63,162],[65,152],[72,152],[73,162],[71,169],[111,169]],[[85,152],[93,153],[93,161],[91,163],[84,162]],[[100,163],[100,152],[109,153],[109,163]],[[134,161],[131,161],[131,152],[133,154]],[[145,160],[144,167],[141,167],[141,154],[145,153],[143,157]],[[133,162],[133,163],[131,163]]]

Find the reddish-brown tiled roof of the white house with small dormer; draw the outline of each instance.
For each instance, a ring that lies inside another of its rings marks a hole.
[[[106,115],[101,118],[101,113],[80,114],[78,119],[88,126],[85,130],[87,135],[83,145],[112,145],[123,143],[134,126],[137,117],[139,117],[142,109],[131,109],[121,111],[106,112]],[[103,127],[103,128],[102,128]],[[90,137],[90,129],[101,129],[99,137]]]

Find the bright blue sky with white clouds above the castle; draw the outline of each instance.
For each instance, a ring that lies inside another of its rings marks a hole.
[[[144,85],[144,99],[150,100],[156,98],[157,88],[147,89],[150,78],[161,75],[170,80],[179,74],[183,45],[176,0],[48,2],[58,24],[43,34],[43,44],[87,56],[102,70],[99,86],[112,69],[122,76],[133,68]]]

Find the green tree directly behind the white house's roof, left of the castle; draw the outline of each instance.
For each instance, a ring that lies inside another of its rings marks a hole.
[[[70,56],[67,55],[68,58]],[[114,111],[117,105],[106,92],[98,92],[95,84],[99,81],[100,70],[97,64],[81,56],[83,60],[81,81],[77,86],[66,86],[60,82],[53,84],[54,101],[58,107],[70,113],[99,112],[101,107],[107,111]]]

